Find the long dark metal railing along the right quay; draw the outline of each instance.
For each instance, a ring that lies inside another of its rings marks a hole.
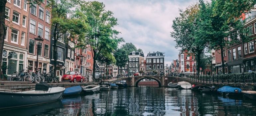
[[[202,82],[202,83],[255,83],[254,72],[252,73],[236,73],[236,74],[224,74],[224,75],[186,75],[178,74],[177,77],[184,78],[190,81]]]

